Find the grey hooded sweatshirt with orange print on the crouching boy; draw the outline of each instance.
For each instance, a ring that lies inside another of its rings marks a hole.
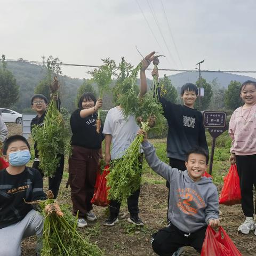
[[[195,182],[187,170],[182,172],[160,161],[149,142],[143,142],[142,148],[151,169],[170,182],[168,219],[175,227],[194,233],[210,219],[219,218],[218,191],[211,178]]]

